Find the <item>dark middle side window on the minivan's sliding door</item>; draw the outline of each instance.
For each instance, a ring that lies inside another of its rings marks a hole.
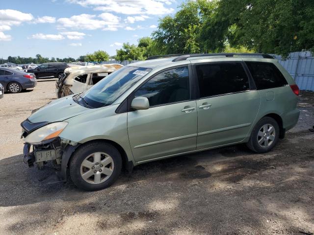
[[[241,63],[196,65],[200,96],[208,97],[249,90],[249,80]]]

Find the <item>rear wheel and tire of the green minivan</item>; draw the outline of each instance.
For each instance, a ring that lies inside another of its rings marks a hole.
[[[269,152],[278,142],[279,125],[270,117],[259,120],[252,130],[250,140],[246,143],[249,149],[257,153]]]

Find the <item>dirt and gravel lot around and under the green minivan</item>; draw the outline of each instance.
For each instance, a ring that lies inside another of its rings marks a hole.
[[[110,188],[46,185],[29,169],[20,123],[55,98],[54,81],[0,99],[0,234],[259,235],[314,233],[314,93],[268,154],[232,146],[142,164]]]

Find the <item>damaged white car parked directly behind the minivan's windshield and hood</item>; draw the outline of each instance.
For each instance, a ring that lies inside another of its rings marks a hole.
[[[108,74],[121,67],[123,65],[108,64],[67,68],[60,80],[57,80],[55,83],[55,94],[57,98],[60,98],[87,91]]]

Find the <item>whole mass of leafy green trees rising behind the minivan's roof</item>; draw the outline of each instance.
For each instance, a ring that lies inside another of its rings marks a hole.
[[[254,51],[287,56],[314,48],[314,1],[188,0],[160,19],[160,54]]]

